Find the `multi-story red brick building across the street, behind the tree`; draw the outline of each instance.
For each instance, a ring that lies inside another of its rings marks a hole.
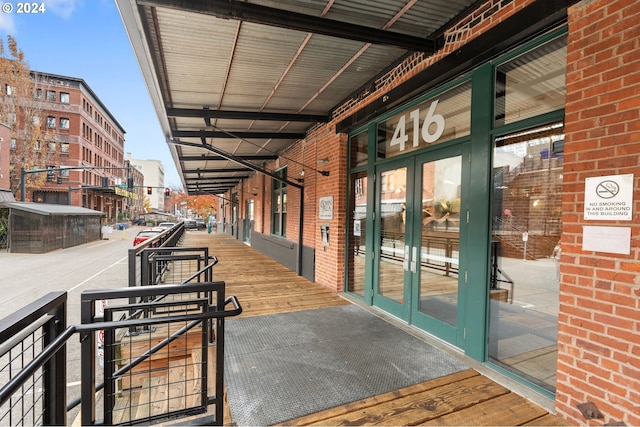
[[[131,172],[124,161],[125,130],[84,80],[41,72],[32,72],[32,80],[46,135],[35,149],[47,150],[48,164],[41,168],[52,171],[42,186],[27,188],[20,197],[99,210],[107,222],[126,217],[129,204],[140,196],[127,186]],[[19,144],[12,147],[16,151]],[[19,156],[12,157],[19,171]],[[20,179],[14,173],[12,187],[18,193]]]

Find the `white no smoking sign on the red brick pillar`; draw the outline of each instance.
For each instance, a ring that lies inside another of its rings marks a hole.
[[[631,221],[633,174],[585,179],[584,219]]]

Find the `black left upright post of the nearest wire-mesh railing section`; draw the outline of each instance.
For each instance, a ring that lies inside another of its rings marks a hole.
[[[80,322],[83,325],[93,323],[96,313],[95,301],[82,296],[80,305]],[[95,424],[96,420],[96,340],[94,332],[80,333],[81,384],[82,396],[81,412],[82,425]]]

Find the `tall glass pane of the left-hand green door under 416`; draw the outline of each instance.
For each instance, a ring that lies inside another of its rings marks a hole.
[[[379,245],[377,294],[404,304],[406,246],[407,167],[387,170],[379,177]]]

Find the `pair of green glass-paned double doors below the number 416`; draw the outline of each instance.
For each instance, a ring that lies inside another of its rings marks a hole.
[[[385,163],[376,183],[374,305],[462,347],[466,145]]]

